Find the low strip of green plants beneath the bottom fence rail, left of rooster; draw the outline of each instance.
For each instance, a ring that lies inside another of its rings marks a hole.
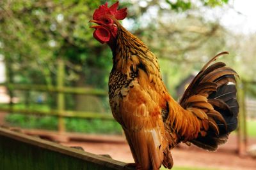
[[[58,130],[58,118],[51,116],[10,114],[6,117],[8,124],[26,129]],[[68,132],[94,134],[122,134],[122,127],[114,120],[65,118]]]

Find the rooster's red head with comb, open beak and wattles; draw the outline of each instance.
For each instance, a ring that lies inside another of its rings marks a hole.
[[[93,20],[98,25],[92,25],[94,28],[93,36],[100,43],[109,43],[111,39],[116,38],[118,31],[118,20],[123,20],[127,16],[127,8],[117,10],[118,1],[108,8],[108,3],[102,4],[93,13]]]

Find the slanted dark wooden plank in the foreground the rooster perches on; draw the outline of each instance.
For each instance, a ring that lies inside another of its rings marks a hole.
[[[125,165],[108,157],[0,128],[0,169],[130,169]]]

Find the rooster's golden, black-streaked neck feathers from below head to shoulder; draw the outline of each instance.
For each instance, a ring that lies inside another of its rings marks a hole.
[[[168,94],[163,85],[156,55],[150,52],[139,38],[122,26],[118,29],[116,43],[112,51],[112,77],[118,75],[118,77],[125,77],[126,81],[136,79],[143,82],[140,85],[152,85],[150,88],[160,90],[159,94],[163,96]]]

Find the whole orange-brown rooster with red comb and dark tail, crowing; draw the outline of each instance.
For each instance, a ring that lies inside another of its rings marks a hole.
[[[214,151],[237,127],[237,73],[213,57],[195,76],[179,103],[168,93],[156,55],[118,20],[127,8],[102,4],[93,13],[93,37],[113,52],[109,104],[122,125],[136,169],[171,169],[171,150],[193,143]],[[131,164],[129,164],[131,166]]]

